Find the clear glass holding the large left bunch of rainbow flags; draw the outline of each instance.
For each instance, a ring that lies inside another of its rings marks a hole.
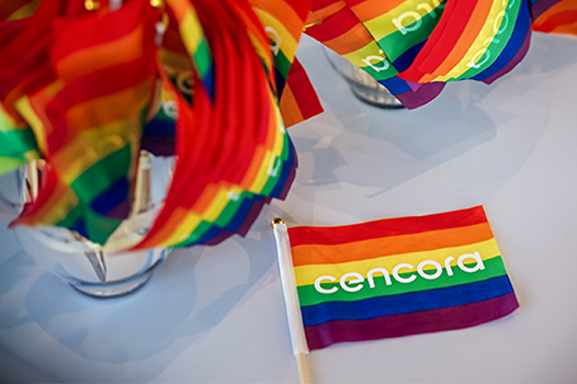
[[[156,158],[143,151],[137,173],[133,213],[106,241],[105,250],[75,231],[59,227],[14,227],[14,234],[34,261],[95,297],[113,297],[134,292],[150,278],[169,249],[125,251],[136,245],[152,224],[171,180],[172,158]],[[22,203],[34,195],[35,167],[22,168],[2,178],[0,214],[13,219]]]

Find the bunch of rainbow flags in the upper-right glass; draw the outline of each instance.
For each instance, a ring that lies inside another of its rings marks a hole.
[[[445,82],[509,72],[527,54],[532,18],[556,1],[313,0],[306,33],[412,109]],[[563,13],[554,19],[566,22]]]

